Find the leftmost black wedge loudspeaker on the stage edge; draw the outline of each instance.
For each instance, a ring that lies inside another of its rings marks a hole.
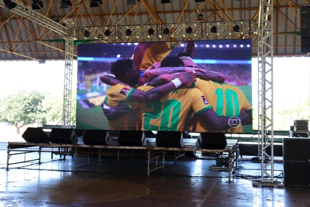
[[[28,127],[21,135],[27,142],[49,143],[50,139],[42,128]]]

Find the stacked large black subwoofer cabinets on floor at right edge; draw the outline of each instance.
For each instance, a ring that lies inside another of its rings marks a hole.
[[[284,186],[310,188],[310,138],[284,138]]]

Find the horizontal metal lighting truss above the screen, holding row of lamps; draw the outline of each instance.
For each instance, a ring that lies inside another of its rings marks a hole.
[[[240,31],[234,32],[233,27],[238,25]],[[257,34],[255,30],[256,20],[239,20],[228,22],[200,22],[200,23],[179,23],[179,24],[157,24],[157,25],[117,25],[75,28],[74,39],[138,39],[138,38],[188,38],[188,37],[219,37],[219,36],[237,36]],[[193,29],[193,33],[188,34],[188,27]],[[216,26],[216,33],[211,33],[211,27]],[[154,30],[153,35],[148,34],[148,30]],[[168,28],[170,34],[163,34],[163,30]],[[104,31],[109,29],[110,36],[105,36]],[[131,30],[131,35],[126,35],[126,30]],[[85,37],[84,32],[89,32]]]

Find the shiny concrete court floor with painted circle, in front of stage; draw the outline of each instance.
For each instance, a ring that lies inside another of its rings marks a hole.
[[[59,155],[51,159],[51,153],[42,153],[41,165],[32,161],[10,165],[7,171],[6,150],[7,143],[1,142],[0,206],[5,207],[310,206],[310,188],[254,187],[251,180],[261,175],[260,164],[250,161],[239,162],[237,173],[228,183],[226,171],[209,169],[215,160],[187,159],[177,164],[166,160],[164,170],[151,172],[148,177],[145,156],[117,161],[115,155],[102,155],[101,167],[84,166],[74,174],[72,156],[60,160]],[[78,166],[85,158],[83,164],[96,160],[94,156],[78,156]],[[10,159],[21,161],[24,155]],[[274,167],[277,180],[283,181],[283,164],[275,163]]]

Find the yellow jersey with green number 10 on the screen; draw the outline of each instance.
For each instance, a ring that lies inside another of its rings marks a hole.
[[[199,78],[196,80],[196,88],[203,93],[217,115],[228,117],[239,116],[241,108],[245,110],[252,109],[244,93],[237,86],[229,83],[201,80]],[[198,120],[196,131],[206,132],[208,130],[203,128]],[[242,132],[242,125],[237,128],[231,128],[228,131]]]

